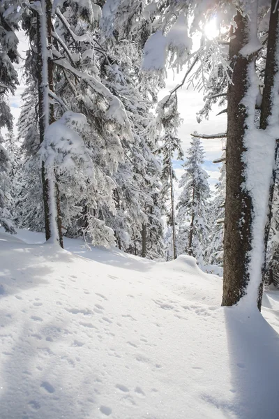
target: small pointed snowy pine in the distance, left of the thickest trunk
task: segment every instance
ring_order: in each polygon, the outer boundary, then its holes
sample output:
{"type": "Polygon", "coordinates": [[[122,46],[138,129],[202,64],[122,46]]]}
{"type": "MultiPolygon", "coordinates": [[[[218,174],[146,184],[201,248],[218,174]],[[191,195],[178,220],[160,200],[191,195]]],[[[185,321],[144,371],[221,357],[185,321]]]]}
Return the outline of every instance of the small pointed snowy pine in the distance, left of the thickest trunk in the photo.
{"type": "Polygon", "coordinates": [[[192,138],[183,163],[185,173],[179,186],[183,191],[177,203],[178,253],[195,256],[199,265],[204,264],[204,252],[207,244],[208,226],[206,205],[210,197],[208,175],[202,168],[204,151],[199,138],[192,138]]]}

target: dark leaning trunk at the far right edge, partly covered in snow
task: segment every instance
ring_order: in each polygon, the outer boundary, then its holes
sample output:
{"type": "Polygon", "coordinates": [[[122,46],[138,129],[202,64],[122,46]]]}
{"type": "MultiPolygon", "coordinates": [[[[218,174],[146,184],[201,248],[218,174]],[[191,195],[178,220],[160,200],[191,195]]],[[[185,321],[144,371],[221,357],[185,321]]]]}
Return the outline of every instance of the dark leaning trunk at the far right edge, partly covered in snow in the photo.
{"type": "MultiPolygon", "coordinates": [[[[262,95],[261,119],[259,123],[259,128],[262,128],[262,129],[266,129],[268,127],[269,118],[274,112],[273,88],[275,84],[275,78],[276,76],[278,77],[278,72],[279,72],[278,57],[276,57],[276,52],[278,50],[278,34],[279,34],[278,1],[272,0],[271,1],[271,15],[270,15],[270,20],[269,20],[269,39],[267,43],[267,52],[266,52],[266,69],[265,69],[265,74],[264,74],[264,91],[262,95]]],[[[275,149],[275,156],[274,156],[275,161],[277,159],[277,152],[278,152],[278,143],[275,149]]],[[[275,178],[276,178],[276,168],[274,167],[273,177],[271,179],[270,193],[269,193],[269,214],[268,214],[268,219],[266,222],[266,230],[265,230],[265,237],[264,237],[265,259],[266,259],[267,242],[269,240],[269,230],[270,230],[271,215],[272,215],[271,208],[272,208],[272,201],[273,201],[275,178]]],[[[273,279],[273,267],[276,267],[276,268],[278,267],[276,258],[275,258],[275,263],[274,264],[272,263],[271,268],[270,268],[271,279],[273,279]]],[[[262,304],[262,293],[264,289],[265,275],[266,275],[266,260],[263,267],[262,284],[259,286],[259,299],[258,299],[259,309],[261,308],[261,304],[262,304]]],[[[278,277],[277,272],[276,272],[276,276],[278,277]]]]}

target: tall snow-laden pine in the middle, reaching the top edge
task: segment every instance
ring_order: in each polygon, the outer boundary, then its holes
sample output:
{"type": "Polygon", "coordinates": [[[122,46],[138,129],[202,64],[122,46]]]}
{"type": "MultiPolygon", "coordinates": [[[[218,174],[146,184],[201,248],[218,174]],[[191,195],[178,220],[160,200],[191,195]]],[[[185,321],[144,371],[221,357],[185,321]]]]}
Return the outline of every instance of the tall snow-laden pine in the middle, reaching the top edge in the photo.
{"type": "Polygon", "coordinates": [[[133,142],[121,142],[124,161],[114,175],[116,217],[107,222],[114,226],[121,248],[158,258],[163,256],[162,206],[158,199],[160,164],[154,157],[158,135],[150,112],[156,92],[140,73],[144,41],[142,31],[136,31],[135,25],[148,31],[140,9],[130,1],[117,5],[106,1],[100,20],[99,42],[106,52],[103,59],[100,57],[101,80],[123,101],[134,138],[133,142]]]}

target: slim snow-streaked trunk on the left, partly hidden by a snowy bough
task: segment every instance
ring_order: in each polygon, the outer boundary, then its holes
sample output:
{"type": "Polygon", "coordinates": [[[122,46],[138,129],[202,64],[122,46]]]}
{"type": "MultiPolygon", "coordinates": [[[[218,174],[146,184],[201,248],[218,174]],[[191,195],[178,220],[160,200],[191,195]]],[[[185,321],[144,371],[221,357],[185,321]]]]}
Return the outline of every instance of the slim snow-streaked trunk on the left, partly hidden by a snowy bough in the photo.
{"type": "MultiPolygon", "coordinates": [[[[38,36],[38,110],[40,143],[45,138],[45,130],[54,122],[54,106],[49,100],[49,90],[54,90],[53,62],[49,57],[49,46],[52,42],[52,2],[42,0],[43,15],[37,15],[38,36]]],[[[61,227],[59,187],[55,181],[55,173],[50,176],[45,164],[42,164],[43,203],[45,212],[45,238],[56,237],[63,247],[61,227]],[[53,214],[52,214],[53,212],[53,214]]]]}

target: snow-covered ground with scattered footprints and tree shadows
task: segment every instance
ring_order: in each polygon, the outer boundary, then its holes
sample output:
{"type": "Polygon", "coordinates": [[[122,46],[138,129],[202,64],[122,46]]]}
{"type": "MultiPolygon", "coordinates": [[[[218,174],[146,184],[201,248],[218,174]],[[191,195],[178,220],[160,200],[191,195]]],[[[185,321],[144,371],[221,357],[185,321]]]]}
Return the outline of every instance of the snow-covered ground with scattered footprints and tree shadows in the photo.
{"type": "Polygon", "coordinates": [[[279,418],[278,291],[264,320],[220,308],[222,279],[190,257],[27,231],[0,247],[1,419],[279,418]]]}

